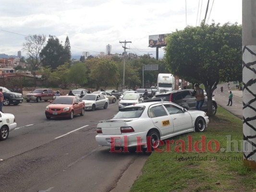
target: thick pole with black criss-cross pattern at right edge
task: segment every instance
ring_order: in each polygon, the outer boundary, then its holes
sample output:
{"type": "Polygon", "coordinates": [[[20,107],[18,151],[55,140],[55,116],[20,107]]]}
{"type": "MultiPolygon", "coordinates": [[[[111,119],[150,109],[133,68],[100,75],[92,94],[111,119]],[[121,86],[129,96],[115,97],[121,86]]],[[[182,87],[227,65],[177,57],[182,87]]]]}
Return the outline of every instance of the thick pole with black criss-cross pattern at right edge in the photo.
{"type": "Polygon", "coordinates": [[[244,164],[256,169],[256,1],[243,0],[243,153],[244,164]]]}

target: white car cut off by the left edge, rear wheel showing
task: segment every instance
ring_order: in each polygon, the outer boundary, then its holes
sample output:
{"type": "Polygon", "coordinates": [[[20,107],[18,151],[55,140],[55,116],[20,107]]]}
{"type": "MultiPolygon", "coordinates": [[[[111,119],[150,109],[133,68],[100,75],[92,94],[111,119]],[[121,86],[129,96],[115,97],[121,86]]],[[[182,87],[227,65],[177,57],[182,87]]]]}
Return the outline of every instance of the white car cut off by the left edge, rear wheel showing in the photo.
{"type": "Polygon", "coordinates": [[[14,115],[0,112],[0,141],[6,140],[9,132],[17,127],[14,115]]]}

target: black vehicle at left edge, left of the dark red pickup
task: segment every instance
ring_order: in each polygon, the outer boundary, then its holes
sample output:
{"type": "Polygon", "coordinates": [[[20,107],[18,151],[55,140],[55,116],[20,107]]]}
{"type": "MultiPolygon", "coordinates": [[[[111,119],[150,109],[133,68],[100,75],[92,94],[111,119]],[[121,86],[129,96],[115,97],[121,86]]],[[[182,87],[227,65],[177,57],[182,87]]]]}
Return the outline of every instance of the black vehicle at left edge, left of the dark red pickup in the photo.
{"type": "Polygon", "coordinates": [[[19,105],[23,102],[23,96],[21,93],[15,93],[5,87],[0,87],[3,91],[3,105],[19,105]]]}

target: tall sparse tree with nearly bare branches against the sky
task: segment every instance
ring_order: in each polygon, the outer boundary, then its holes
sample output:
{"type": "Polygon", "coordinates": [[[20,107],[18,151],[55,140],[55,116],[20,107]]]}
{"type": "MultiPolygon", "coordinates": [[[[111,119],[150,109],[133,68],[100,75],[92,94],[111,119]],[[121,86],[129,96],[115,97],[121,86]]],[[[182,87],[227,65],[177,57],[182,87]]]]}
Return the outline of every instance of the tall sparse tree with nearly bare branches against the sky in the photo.
{"type": "Polygon", "coordinates": [[[25,43],[23,43],[23,50],[27,52],[28,64],[34,76],[34,84],[36,84],[36,71],[41,64],[39,58],[40,51],[46,41],[45,35],[29,35],[25,37],[25,43]]]}

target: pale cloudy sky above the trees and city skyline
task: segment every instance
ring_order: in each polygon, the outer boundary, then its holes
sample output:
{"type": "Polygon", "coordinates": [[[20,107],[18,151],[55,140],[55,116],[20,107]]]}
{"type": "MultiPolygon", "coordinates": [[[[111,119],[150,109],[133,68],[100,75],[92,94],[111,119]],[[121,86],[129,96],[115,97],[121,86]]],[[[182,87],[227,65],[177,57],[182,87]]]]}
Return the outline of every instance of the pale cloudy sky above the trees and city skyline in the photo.
{"type": "MultiPolygon", "coordinates": [[[[127,52],[156,56],[148,36],[167,34],[204,19],[207,0],[1,0],[0,53],[17,55],[28,35],[69,37],[72,55],[97,55],[112,46],[122,53],[120,41],[132,41],[127,52]]],[[[210,0],[207,23],[242,24],[242,0],[210,0]]],[[[159,49],[159,57],[164,53],[159,49]]]]}

